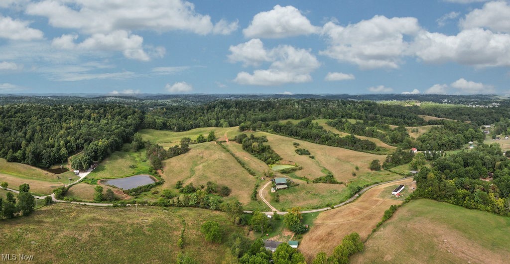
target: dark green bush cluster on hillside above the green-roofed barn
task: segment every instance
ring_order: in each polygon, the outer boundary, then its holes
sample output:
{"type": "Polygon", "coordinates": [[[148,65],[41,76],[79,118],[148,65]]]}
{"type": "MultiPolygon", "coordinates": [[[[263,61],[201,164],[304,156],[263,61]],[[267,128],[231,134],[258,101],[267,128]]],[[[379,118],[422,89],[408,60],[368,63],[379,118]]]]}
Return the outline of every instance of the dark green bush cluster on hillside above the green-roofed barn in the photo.
{"type": "Polygon", "coordinates": [[[267,138],[255,137],[251,134],[249,137],[246,134],[237,135],[234,141],[242,144],[243,149],[248,151],[250,154],[257,157],[257,159],[265,162],[266,164],[275,164],[277,161],[282,160],[271,146],[264,144],[267,142],[267,138]]]}

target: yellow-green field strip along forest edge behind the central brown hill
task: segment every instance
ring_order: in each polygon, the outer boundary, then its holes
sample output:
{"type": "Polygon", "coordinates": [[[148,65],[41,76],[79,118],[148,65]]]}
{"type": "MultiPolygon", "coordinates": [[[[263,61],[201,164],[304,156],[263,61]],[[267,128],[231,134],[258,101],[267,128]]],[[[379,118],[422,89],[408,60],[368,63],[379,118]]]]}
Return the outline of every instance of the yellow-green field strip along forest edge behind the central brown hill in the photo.
{"type": "Polygon", "coordinates": [[[142,129],[140,134],[143,140],[149,140],[152,144],[160,144],[164,148],[179,145],[182,138],[191,138],[196,140],[198,135],[202,134],[207,138],[210,131],[214,131],[214,135],[218,140],[234,139],[240,134],[239,127],[200,127],[183,132],[172,132],[167,130],[142,129]]]}

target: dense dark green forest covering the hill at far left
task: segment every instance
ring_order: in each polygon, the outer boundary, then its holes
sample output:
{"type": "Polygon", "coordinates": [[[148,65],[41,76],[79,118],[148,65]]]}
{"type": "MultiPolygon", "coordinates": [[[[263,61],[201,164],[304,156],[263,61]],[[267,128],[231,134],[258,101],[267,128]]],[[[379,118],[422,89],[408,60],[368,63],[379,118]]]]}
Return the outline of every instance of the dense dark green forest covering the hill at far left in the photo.
{"type": "Polygon", "coordinates": [[[0,106],[0,157],[49,167],[85,150],[98,161],[131,141],[143,113],[120,104],[0,106]]]}

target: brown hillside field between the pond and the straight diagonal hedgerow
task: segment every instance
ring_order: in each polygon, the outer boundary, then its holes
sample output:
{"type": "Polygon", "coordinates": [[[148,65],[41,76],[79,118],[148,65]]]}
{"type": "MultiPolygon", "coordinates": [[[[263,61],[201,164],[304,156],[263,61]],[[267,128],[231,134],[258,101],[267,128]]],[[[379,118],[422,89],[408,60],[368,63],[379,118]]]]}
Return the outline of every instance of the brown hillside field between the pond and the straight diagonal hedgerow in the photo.
{"type": "Polygon", "coordinates": [[[184,185],[193,183],[194,187],[213,181],[232,189],[230,197],[236,197],[241,203],[250,201],[257,178],[249,175],[231,154],[215,142],[194,144],[190,148],[189,152],[164,161],[164,189],[174,189],[179,180],[184,185]]]}

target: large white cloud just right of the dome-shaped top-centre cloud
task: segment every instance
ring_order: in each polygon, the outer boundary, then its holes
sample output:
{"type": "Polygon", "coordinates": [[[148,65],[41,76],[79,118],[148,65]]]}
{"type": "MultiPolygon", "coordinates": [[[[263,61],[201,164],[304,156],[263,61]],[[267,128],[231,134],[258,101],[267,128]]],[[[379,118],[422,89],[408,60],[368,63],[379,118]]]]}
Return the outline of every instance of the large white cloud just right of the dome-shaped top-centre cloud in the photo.
{"type": "Polygon", "coordinates": [[[415,36],[420,30],[414,17],[376,15],[346,27],[328,22],[322,35],[329,46],[320,54],[363,69],[398,68],[410,45],[404,36],[415,36]]]}

